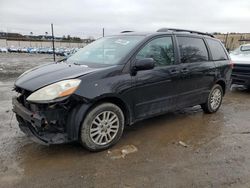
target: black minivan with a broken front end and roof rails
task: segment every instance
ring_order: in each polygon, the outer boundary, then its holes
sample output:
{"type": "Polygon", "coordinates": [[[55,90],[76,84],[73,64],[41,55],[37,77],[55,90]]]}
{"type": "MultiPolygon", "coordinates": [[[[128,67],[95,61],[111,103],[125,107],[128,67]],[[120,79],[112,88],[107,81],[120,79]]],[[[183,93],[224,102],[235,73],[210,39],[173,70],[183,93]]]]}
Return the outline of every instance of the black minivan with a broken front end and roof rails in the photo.
{"type": "Polygon", "coordinates": [[[207,33],[160,29],[96,40],[69,58],[28,70],[15,82],[20,129],[43,144],[114,145],[124,126],[201,105],[216,112],[232,64],[207,33]]]}

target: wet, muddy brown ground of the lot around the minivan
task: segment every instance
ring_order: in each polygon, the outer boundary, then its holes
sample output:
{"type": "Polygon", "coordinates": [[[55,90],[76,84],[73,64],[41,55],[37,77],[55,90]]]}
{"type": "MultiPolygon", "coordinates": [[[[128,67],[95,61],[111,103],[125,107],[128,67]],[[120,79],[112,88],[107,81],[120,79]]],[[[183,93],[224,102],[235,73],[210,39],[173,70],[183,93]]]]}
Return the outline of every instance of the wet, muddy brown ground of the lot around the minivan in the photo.
{"type": "Polygon", "coordinates": [[[17,128],[11,89],[51,60],[0,54],[0,187],[250,187],[250,91],[233,88],[213,115],[197,106],[139,122],[108,151],[47,147],[17,128]]]}

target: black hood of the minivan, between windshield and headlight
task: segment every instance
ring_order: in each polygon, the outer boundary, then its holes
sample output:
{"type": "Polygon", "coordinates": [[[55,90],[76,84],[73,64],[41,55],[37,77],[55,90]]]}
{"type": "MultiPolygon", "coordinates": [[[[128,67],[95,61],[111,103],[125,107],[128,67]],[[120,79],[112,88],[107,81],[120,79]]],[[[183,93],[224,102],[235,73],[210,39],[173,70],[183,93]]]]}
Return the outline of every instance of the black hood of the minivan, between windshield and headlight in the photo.
{"type": "Polygon", "coordinates": [[[15,86],[35,91],[46,85],[94,72],[100,68],[90,68],[86,65],[69,63],[49,63],[35,67],[23,73],[15,82],[15,86]]]}

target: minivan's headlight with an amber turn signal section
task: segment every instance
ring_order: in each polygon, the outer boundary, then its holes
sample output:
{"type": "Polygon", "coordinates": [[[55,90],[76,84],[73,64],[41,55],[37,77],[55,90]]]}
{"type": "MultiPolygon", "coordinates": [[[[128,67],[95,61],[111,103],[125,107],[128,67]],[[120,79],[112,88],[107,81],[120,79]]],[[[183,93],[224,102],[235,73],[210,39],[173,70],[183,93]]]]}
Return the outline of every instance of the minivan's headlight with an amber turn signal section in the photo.
{"type": "Polygon", "coordinates": [[[75,92],[81,80],[72,79],[56,82],[45,86],[32,93],[27,100],[32,102],[51,101],[57,98],[66,97],[75,92]]]}

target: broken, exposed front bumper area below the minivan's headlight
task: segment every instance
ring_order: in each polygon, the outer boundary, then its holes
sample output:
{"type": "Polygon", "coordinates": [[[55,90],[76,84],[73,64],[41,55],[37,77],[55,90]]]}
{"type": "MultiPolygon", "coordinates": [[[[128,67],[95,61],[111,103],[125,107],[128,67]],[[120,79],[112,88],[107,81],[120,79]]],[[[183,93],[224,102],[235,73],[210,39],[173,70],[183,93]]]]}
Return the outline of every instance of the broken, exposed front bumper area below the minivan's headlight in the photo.
{"type": "Polygon", "coordinates": [[[19,127],[33,141],[49,145],[69,142],[66,129],[59,120],[65,118],[63,110],[52,109],[49,111],[33,112],[26,108],[17,97],[12,99],[13,111],[16,113],[19,127]],[[57,114],[54,119],[44,114],[57,114]]]}

